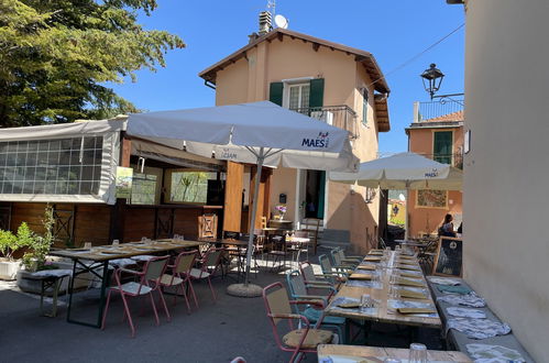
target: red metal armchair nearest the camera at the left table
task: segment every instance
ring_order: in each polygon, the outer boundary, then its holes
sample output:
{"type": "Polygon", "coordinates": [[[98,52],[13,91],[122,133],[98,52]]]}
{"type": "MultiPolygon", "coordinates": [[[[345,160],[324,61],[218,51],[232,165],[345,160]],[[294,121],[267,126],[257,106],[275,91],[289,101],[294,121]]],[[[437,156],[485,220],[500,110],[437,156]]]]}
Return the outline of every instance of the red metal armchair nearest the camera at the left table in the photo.
{"type": "Polygon", "coordinates": [[[156,310],[156,304],[154,302],[154,297],[153,297],[153,292],[157,290],[161,297],[162,305],[164,306],[164,311],[166,312],[167,320],[168,321],[171,320],[166,301],[164,300],[164,295],[160,290],[161,287],[160,279],[161,276],[166,271],[167,262],[168,262],[168,256],[160,256],[149,260],[145,263],[142,272],[134,270],[127,270],[127,268],[117,268],[114,271],[114,280],[117,283],[117,286],[113,286],[109,289],[109,294],[107,296],[107,304],[105,306],[105,314],[103,314],[103,321],[101,324],[101,329],[105,329],[106,326],[107,312],[109,311],[110,297],[113,292],[119,293],[120,296],[122,297],[122,302],[124,304],[124,317],[128,317],[128,322],[130,323],[130,329],[132,330],[132,338],[135,337],[135,327],[133,324],[132,316],[130,314],[128,297],[139,297],[139,296],[149,295],[151,298],[151,305],[153,306],[154,317],[156,319],[156,326],[158,326],[160,324],[158,311],[156,310]],[[122,284],[120,277],[121,273],[135,275],[136,277],[140,277],[140,280],[139,283],[129,282],[122,284]]]}

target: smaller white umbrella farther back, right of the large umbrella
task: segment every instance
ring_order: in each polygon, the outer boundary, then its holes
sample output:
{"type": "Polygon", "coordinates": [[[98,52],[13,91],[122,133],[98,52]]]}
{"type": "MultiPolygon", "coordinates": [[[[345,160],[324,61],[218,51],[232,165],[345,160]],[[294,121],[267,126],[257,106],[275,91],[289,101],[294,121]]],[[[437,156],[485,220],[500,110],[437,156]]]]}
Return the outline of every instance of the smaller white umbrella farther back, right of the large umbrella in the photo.
{"type": "MultiPolygon", "coordinates": [[[[358,173],[330,173],[333,182],[354,184],[382,189],[460,190],[462,172],[415,153],[400,153],[360,164],[358,173]]],[[[406,238],[408,231],[406,211],[406,238]]]]}

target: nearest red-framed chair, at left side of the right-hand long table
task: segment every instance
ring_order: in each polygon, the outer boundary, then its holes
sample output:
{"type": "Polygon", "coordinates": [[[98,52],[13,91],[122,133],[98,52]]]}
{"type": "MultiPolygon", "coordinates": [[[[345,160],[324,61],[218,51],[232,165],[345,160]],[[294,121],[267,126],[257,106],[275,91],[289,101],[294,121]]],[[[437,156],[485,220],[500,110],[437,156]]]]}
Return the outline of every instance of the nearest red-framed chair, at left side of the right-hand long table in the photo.
{"type": "Polygon", "coordinates": [[[285,352],[293,352],[290,362],[299,362],[305,353],[316,353],[319,344],[337,343],[338,336],[329,330],[318,329],[323,320],[323,312],[320,315],[317,323],[311,327],[309,320],[292,311],[290,305],[307,304],[322,307],[322,304],[311,300],[289,300],[286,289],[282,283],[274,283],[263,289],[263,301],[267,317],[273,328],[276,344],[285,352]],[[282,338],[279,336],[279,322],[288,321],[289,332],[282,338]],[[297,321],[296,321],[297,320],[297,321]],[[297,329],[294,328],[297,322],[297,329]]]}

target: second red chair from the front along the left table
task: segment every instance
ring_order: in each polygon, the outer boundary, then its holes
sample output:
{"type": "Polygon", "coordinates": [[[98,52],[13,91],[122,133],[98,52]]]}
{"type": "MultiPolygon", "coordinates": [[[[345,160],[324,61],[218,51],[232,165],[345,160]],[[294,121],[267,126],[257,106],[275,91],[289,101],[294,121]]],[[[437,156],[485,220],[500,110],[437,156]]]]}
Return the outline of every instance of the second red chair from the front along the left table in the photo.
{"type": "Polygon", "coordinates": [[[175,287],[174,294],[174,305],[177,299],[177,292],[180,288],[183,297],[185,297],[185,302],[187,304],[188,312],[190,314],[190,304],[187,296],[186,286],[188,285],[189,292],[193,295],[193,299],[195,300],[195,305],[198,308],[198,300],[196,298],[195,289],[193,288],[193,283],[190,280],[190,271],[195,265],[195,258],[198,254],[197,250],[182,252],[177,255],[173,265],[167,265],[169,268],[169,273],[165,273],[162,275],[160,280],[161,286],[164,287],[175,287]]]}

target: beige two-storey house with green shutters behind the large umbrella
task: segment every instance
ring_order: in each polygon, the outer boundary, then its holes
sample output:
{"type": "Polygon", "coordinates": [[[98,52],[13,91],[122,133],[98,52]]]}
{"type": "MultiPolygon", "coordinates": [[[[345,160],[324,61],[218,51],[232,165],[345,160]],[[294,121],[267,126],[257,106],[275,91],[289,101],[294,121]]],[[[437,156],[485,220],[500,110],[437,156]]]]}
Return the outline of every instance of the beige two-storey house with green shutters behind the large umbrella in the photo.
{"type": "MultiPolygon", "coordinates": [[[[389,89],[378,65],[370,53],[341,44],[275,29],[199,76],[215,85],[218,106],[271,100],[348,130],[361,162],[376,157],[377,133],[389,130],[389,89]]],[[[325,172],[283,167],[272,170],[268,186],[267,215],[285,199],[285,219],[318,218],[326,238],[352,241],[356,250],[376,238],[372,190],[331,183],[325,172]]]]}

